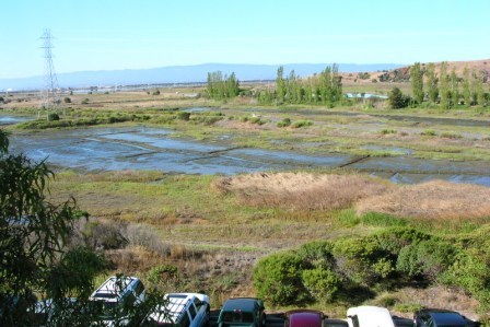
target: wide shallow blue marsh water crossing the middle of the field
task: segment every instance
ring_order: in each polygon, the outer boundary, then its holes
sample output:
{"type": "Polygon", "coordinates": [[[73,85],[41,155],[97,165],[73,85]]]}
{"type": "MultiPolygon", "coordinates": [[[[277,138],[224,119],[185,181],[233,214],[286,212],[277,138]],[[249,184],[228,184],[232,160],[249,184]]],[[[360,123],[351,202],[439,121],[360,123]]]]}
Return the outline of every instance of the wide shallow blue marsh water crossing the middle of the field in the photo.
{"type": "Polygon", "coordinates": [[[350,154],[272,151],[234,148],[225,142],[175,139],[167,129],[91,128],[15,135],[12,152],[34,160],[85,172],[156,170],[183,174],[234,175],[264,171],[350,167],[394,183],[415,184],[431,179],[474,183],[490,187],[490,162],[452,162],[399,156],[359,157],[350,154]]]}

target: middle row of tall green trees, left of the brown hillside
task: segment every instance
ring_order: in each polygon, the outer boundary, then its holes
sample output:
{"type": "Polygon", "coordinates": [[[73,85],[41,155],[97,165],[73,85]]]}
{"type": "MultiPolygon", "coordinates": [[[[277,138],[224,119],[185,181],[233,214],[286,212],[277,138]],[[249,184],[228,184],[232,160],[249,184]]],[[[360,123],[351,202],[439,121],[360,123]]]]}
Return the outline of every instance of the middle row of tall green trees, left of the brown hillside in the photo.
{"type": "Polygon", "coordinates": [[[306,79],[298,77],[294,70],[284,78],[281,66],[277,72],[276,89],[259,92],[257,98],[261,104],[324,104],[332,107],[342,100],[342,78],[337,65],[306,79]]]}

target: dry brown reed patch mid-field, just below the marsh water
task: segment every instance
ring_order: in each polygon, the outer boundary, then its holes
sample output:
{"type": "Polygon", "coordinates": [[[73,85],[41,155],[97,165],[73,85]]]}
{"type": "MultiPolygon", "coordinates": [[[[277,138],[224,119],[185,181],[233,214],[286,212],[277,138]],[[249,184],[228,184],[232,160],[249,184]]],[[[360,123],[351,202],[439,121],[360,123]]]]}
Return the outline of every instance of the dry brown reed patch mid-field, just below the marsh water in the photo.
{"type": "Polygon", "coordinates": [[[294,210],[335,210],[383,195],[390,186],[360,175],[256,173],[214,179],[221,194],[236,194],[244,205],[294,210]]]}

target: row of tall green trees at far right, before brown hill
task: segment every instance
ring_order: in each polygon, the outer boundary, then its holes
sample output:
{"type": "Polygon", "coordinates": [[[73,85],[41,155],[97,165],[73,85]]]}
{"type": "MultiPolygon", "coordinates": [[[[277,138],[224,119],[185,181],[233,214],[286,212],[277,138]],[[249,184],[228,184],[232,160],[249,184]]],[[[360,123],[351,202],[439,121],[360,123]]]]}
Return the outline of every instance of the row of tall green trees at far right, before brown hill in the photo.
{"type": "Polygon", "coordinates": [[[416,62],[410,68],[412,101],[415,104],[421,104],[425,100],[430,103],[440,103],[445,109],[458,104],[486,106],[488,103],[483,90],[486,79],[483,71],[470,73],[468,67],[465,67],[462,78],[456,74],[454,67],[448,73],[447,62],[441,63],[438,75],[434,63],[429,63],[422,69],[420,62],[416,62]]]}

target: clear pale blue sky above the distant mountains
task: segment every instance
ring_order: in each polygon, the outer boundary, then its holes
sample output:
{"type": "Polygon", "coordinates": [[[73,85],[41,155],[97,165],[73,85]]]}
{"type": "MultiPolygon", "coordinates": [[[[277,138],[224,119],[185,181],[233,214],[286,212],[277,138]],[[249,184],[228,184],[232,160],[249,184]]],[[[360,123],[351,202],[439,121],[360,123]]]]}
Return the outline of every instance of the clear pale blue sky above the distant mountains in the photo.
{"type": "Polygon", "coordinates": [[[490,58],[489,0],[5,0],[0,79],[225,63],[490,58]]]}

